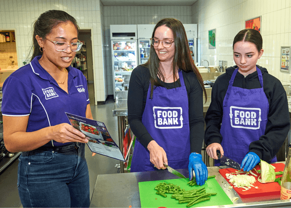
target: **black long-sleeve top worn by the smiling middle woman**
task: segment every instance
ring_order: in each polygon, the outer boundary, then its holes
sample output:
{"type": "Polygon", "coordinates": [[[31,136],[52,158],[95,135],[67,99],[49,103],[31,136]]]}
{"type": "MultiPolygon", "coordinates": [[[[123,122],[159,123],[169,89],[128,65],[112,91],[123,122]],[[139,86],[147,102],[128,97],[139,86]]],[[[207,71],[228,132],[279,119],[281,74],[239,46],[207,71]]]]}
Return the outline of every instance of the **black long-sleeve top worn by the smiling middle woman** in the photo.
{"type": "MultiPolygon", "coordinates": [[[[204,137],[203,92],[193,72],[186,73],[182,71],[182,74],[189,102],[190,150],[201,154],[204,137]]],[[[145,148],[152,140],[155,140],[155,135],[151,136],[141,122],[145,103],[147,102],[150,79],[149,68],[139,65],[132,71],[128,89],[128,122],[137,140],[145,148]]],[[[160,82],[167,89],[181,86],[180,79],[174,83],[160,82]]]]}

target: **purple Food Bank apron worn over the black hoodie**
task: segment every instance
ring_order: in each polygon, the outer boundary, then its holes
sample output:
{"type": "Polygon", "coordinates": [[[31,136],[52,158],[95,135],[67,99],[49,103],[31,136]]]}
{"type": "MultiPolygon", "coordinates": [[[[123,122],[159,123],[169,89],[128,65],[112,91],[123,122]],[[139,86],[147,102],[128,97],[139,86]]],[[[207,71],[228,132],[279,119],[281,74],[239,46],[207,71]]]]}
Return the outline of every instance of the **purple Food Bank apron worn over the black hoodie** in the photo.
{"type": "MultiPolygon", "coordinates": [[[[238,68],[232,73],[223,100],[223,117],[220,133],[224,155],[239,164],[249,152],[251,142],[265,134],[268,122],[269,102],[263,88],[263,76],[256,67],[261,88],[233,87],[238,68]]],[[[219,160],[215,165],[220,165],[219,160]]],[[[276,156],[271,160],[276,162],[276,156]]]]}

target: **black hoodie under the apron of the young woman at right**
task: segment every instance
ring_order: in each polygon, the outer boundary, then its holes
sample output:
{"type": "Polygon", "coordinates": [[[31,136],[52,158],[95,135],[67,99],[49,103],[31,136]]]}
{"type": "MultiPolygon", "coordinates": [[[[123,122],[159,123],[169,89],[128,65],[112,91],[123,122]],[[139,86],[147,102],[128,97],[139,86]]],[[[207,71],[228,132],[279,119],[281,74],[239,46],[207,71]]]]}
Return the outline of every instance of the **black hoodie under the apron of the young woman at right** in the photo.
{"type": "MultiPolygon", "coordinates": [[[[256,153],[262,160],[270,161],[281,148],[290,128],[288,101],[281,82],[270,75],[266,68],[259,65],[257,67],[263,75],[264,92],[269,101],[269,114],[265,134],[249,145],[249,152],[256,153]]],[[[236,65],[227,68],[226,73],[220,75],[213,85],[211,103],[205,117],[206,145],[221,144],[223,139],[220,134],[222,104],[229,80],[236,68],[236,65]]],[[[233,86],[246,89],[261,88],[257,71],[246,77],[237,73],[233,86]]]]}

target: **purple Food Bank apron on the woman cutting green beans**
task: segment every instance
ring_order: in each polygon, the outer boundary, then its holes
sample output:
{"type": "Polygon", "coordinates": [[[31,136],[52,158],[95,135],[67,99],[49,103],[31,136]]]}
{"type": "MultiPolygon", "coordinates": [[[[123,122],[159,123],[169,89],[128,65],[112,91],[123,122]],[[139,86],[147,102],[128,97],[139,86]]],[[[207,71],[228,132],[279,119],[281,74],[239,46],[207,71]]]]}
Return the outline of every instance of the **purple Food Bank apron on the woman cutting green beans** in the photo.
{"type": "MultiPolygon", "coordinates": [[[[151,84],[147,102],[142,114],[142,123],[150,135],[161,146],[174,169],[188,168],[190,155],[190,127],[188,96],[182,71],[179,70],[181,87],[166,89],[158,86],[150,98],[151,84]]],[[[150,152],[138,141],[135,142],[131,172],[157,170],[150,161],[150,152]]]]}

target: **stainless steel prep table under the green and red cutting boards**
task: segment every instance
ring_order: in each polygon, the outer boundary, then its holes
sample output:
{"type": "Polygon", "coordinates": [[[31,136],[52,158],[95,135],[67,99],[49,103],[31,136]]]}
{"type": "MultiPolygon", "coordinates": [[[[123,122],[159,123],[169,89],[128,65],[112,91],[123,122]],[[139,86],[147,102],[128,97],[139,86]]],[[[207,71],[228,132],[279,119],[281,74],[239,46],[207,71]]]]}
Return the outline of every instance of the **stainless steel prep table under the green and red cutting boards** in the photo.
{"type": "MultiPolygon", "coordinates": [[[[227,166],[208,167],[208,175],[216,175],[217,182],[231,200],[234,197],[239,197],[239,199],[236,200],[234,204],[220,205],[217,207],[291,206],[290,199],[280,200],[279,197],[273,199],[268,197],[268,201],[266,198],[240,198],[234,189],[228,189],[228,182],[218,172],[220,168],[227,168],[227,166]]],[[[180,169],[179,171],[182,172],[184,176],[188,175],[188,169],[180,169]]],[[[171,174],[167,170],[99,175],[95,184],[90,207],[141,207],[138,182],[177,178],[177,176],[171,174]]]]}

